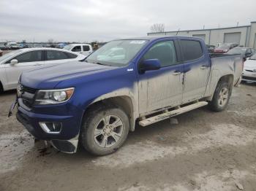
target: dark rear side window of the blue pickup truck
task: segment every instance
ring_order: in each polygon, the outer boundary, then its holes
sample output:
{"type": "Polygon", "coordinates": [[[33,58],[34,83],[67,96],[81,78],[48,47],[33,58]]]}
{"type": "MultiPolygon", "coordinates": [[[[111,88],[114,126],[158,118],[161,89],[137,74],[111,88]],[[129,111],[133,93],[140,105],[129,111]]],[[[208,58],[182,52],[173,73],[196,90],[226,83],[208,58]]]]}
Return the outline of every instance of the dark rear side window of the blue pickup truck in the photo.
{"type": "Polygon", "coordinates": [[[203,56],[203,50],[199,41],[181,40],[181,48],[184,61],[196,60],[203,56]]]}

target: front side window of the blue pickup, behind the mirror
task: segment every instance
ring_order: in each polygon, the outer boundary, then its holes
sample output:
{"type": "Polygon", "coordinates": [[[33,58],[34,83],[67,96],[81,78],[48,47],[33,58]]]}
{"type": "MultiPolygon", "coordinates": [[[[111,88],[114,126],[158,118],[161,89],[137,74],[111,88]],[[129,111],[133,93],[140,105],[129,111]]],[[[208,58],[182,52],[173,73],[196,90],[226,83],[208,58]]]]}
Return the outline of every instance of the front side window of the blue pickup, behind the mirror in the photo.
{"type": "Polygon", "coordinates": [[[177,63],[176,50],[173,41],[154,44],[143,56],[143,60],[158,59],[162,67],[177,63]]]}

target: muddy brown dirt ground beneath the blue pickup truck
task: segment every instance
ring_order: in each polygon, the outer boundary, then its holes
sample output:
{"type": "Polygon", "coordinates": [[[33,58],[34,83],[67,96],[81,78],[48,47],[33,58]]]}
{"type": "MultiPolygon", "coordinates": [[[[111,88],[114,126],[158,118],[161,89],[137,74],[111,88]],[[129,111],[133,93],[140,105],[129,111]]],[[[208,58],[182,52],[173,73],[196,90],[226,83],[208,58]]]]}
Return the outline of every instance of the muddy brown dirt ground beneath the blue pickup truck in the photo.
{"type": "Polygon", "coordinates": [[[256,190],[256,85],[207,107],[129,133],[113,155],[74,155],[34,143],[0,95],[0,190],[256,190]]]}

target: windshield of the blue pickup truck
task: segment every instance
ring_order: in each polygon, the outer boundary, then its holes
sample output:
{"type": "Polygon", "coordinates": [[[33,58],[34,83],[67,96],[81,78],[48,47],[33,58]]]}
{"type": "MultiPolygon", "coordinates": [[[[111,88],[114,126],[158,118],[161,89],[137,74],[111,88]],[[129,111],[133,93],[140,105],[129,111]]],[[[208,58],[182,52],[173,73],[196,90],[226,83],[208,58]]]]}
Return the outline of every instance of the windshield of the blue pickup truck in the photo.
{"type": "Polygon", "coordinates": [[[146,42],[146,40],[115,40],[108,42],[108,44],[89,55],[86,61],[107,66],[126,66],[146,42]]]}

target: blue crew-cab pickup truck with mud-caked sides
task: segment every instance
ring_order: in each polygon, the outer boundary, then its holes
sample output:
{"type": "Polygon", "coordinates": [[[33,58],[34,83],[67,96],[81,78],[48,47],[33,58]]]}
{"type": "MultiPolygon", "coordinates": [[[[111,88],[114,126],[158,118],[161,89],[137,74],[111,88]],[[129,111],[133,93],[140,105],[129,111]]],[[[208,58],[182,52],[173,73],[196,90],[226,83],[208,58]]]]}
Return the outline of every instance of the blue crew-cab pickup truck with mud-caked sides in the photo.
{"type": "Polygon", "coordinates": [[[241,55],[209,55],[198,38],[113,40],[83,62],[24,72],[16,117],[62,152],[76,152],[80,142],[94,155],[108,155],[136,123],[151,125],[206,105],[224,110],[242,69],[241,55]]]}

